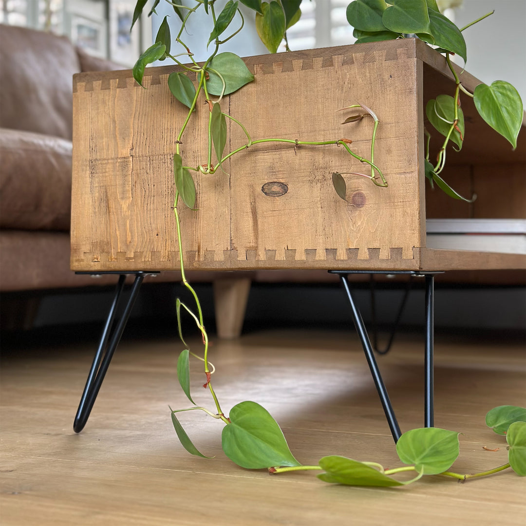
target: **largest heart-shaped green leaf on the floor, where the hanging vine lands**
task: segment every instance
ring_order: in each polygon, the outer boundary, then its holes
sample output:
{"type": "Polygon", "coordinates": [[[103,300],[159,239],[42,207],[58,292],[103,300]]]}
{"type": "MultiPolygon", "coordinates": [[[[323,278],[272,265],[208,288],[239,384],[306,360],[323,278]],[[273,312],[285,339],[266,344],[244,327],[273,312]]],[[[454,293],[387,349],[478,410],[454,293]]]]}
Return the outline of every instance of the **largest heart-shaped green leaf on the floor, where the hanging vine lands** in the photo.
{"type": "Polygon", "coordinates": [[[276,420],[256,402],[241,402],[232,408],[221,442],[226,456],[242,468],[301,466],[276,420]]]}

